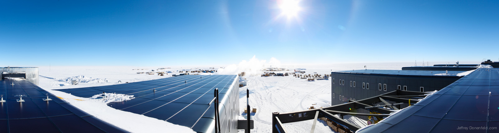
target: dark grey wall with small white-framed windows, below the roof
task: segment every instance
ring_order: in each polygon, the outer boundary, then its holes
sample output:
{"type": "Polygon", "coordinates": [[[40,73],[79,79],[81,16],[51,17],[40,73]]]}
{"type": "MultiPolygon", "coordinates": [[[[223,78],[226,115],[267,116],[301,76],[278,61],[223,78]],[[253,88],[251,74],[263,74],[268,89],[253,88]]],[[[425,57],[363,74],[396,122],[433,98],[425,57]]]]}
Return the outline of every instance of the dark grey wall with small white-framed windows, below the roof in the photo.
{"type": "MultiPolygon", "coordinates": [[[[420,87],[424,87],[424,92],[441,90],[444,87],[452,84],[462,77],[458,76],[412,76],[412,75],[378,75],[378,74],[358,74],[358,73],[338,73],[331,72],[331,105],[339,105],[347,103],[350,98],[352,100],[362,100],[375,97],[390,91],[395,91],[398,86],[403,90],[407,86],[407,91],[420,91],[420,87]],[[340,80],[344,80],[340,84],[340,80]],[[352,86],[350,86],[352,81],[352,86]],[[355,81],[355,87],[353,86],[355,81]],[[362,83],[366,83],[364,86],[362,83]],[[369,89],[367,89],[369,83],[369,89]],[[381,90],[378,85],[381,84],[381,90]],[[384,84],[387,89],[384,90],[384,84]],[[341,97],[340,97],[341,96],[341,97]]],[[[391,103],[391,102],[390,102],[391,103]]],[[[383,103],[378,103],[384,105],[383,103]]],[[[405,108],[408,104],[402,104],[399,108],[405,108]]],[[[368,110],[357,109],[357,113],[369,113],[368,110]]],[[[365,116],[357,116],[363,120],[367,120],[365,116]]]]}

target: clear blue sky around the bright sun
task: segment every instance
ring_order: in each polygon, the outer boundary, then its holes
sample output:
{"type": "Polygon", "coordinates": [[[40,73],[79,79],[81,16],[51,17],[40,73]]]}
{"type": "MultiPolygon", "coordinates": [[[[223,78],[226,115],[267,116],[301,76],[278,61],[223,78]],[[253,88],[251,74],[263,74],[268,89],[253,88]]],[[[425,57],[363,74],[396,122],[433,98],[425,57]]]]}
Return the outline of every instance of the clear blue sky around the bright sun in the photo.
{"type": "Polygon", "coordinates": [[[497,0],[3,0],[0,66],[498,60],[497,0]],[[280,17],[279,17],[280,16],[280,17]]]}

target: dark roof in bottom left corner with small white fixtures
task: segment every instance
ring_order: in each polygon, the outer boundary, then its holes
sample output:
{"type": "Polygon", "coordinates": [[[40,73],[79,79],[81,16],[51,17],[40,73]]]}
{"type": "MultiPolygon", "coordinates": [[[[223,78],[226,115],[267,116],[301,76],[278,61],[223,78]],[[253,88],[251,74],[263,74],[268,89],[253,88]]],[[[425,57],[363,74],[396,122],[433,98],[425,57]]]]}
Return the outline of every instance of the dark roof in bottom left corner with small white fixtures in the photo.
{"type": "Polygon", "coordinates": [[[0,133],[128,133],[91,116],[26,79],[0,81],[0,133]],[[14,85],[11,85],[13,82],[14,85]],[[46,94],[52,99],[43,101],[46,94]],[[18,96],[25,95],[17,102],[18,96]]]}

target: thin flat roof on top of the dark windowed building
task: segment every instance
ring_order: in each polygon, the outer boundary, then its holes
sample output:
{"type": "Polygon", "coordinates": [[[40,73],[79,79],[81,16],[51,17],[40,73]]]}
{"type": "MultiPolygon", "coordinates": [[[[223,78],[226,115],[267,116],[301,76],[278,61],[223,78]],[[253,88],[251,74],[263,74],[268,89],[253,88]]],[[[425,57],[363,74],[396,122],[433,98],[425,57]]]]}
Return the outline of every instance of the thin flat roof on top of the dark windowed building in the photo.
{"type": "Polygon", "coordinates": [[[333,73],[357,73],[357,74],[378,74],[378,75],[413,75],[413,76],[456,76],[458,73],[466,71],[449,71],[449,75],[445,71],[417,71],[417,70],[347,70],[347,71],[334,71],[333,73]],[[436,75],[440,74],[440,75],[436,75]]]}

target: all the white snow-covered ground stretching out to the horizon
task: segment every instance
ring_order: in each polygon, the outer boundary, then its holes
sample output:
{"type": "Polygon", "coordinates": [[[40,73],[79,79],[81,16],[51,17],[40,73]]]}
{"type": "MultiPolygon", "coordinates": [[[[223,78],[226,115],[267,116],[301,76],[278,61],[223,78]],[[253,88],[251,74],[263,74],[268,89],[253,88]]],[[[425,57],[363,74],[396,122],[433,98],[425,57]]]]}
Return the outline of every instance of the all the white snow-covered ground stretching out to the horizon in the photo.
{"type": "MultiPolygon", "coordinates": [[[[133,114],[113,109],[106,105],[105,101],[92,100],[88,98],[75,97],[70,94],[54,91],[57,89],[82,88],[92,86],[105,86],[122,84],[125,82],[139,82],[159,78],[171,77],[173,74],[179,74],[183,70],[218,70],[213,74],[237,74],[247,72],[247,86],[240,89],[240,119],[244,119],[244,108],[246,107],[246,89],[250,89],[250,105],[257,109],[257,113],[251,118],[255,120],[252,133],[270,133],[271,132],[271,113],[272,112],[293,112],[307,110],[311,106],[314,108],[330,106],[331,101],[331,81],[316,80],[306,81],[306,79],[295,78],[293,76],[269,76],[260,77],[263,73],[259,71],[261,67],[278,67],[289,71],[272,71],[275,73],[294,72],[294,69],[302,69],[305,74],[330,74],[331,71],[358,70],[365,69],[385,69],[401,70],[402,67],[414,66],[414,62],[405,63],[344,63],[344,64],[289,64],[281,65],[276,60],[271,64],[261,65],[260,60],[243,61],[239,65],[220,65],[220,66],[185,66],[172,67],[170,69],[159,70],[160,72],[171,71],[167,76],[157,74],[137,74],[138,72],[151,72],[151,70],[163,67],[131,67],[131,66],[41,66],[39,67],[39,86],[49,90],[52,94],[64,98],[75,107],[96,116],[103,121],[111,123],[117,127],[123,128],[134,133],[189,133],[193,132],[187,127],[173,125],[171,123],[149,118],[143,115],[133,114]],[[249,65],[250,64],[250,65],[249,65]],[[220,67],[227,67],[220,69],[220,67]],[[255,68],[256,67],[256,68],[255,68]],[[214,68],[214,69],[210,69],[214,68]],[[139,70],[132,70],[139,69],[139,70]],[[144,70],[141,70],[144,69],[144,70]],[[258,71],[255,71],[257,69],[258,71]],[[80,76],[81,75],[81,76],[80,76]],[[79,77],[78,77],[79,76],[79,77]],[[83,77],[84,76],[84,77],[83,77]],[[83,81],[78,85],[71,85],[66,79],[80,78],[83,81]],[[97,81],[97,82],[95,82],[97,81]],[[107,81],[102,83],[101,81],[107,81]],[[118,83],[121,81],[121,83],[118,83]],[[173,130],[172,130],[173,129],[173,130]]],[[[425,62],[426,64],[426,62],[425,62]]],[[[446,63],[431,63],[446,64],[446,63]]],[[[471,63],[472,64],[472,63],[471,63]]],[[[193,74],[193,73],[191,73],[193,74]]],[[[212,73],[194,73],[194,74],[212,74],[212,73]]],[[[70,81],[70,80],[69,80],[70,81]]],[[[97,95],[97,94],[96,94],[97,95]]],[[[363,123],[355,118],[348,118],[347,121],[363,123]]],[[[312,120],[284,124],[288,132],[303,133],[310,132],[312,120]]],[[[361,126],[362,127],[362,126],[361,126]]],[[[319,121],[315,127],[316,133],[332,132],[326,124],[319,121]],[[322,124],[320,124],[322,123],[322,124]]]]}

